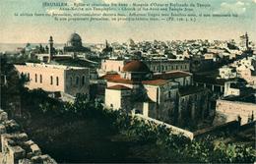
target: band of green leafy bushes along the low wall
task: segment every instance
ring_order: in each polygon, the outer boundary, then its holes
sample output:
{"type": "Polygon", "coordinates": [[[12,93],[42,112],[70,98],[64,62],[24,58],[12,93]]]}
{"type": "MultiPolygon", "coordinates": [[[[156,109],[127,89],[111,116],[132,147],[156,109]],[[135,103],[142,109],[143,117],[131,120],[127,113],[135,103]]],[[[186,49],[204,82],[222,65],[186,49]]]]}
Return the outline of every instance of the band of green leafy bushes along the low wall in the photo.
{"type": "MultiPolygon", "coordinates": [[[[44,106],[44,112],[53,112],[53,106],[44,106]]],[[[108,120],[112,129],[138,144],[153,143],[159,146],[165,155],[160,155],[156,162],[172,162],[173,156],[179,162],[224,162],[224,163],[253,163],[256,151],[243,144],[215,142],[215,137],[204,137],[193,141],[186,137],[173,135],[171,130],[163,125],[145,122],[132,117],[124,111],[104,109],[99,101],[85,101],[84,95],[77,96],[74,103],[66,103],[58,110],[62,115],[75,117],[96,117],[108,120]]]]}

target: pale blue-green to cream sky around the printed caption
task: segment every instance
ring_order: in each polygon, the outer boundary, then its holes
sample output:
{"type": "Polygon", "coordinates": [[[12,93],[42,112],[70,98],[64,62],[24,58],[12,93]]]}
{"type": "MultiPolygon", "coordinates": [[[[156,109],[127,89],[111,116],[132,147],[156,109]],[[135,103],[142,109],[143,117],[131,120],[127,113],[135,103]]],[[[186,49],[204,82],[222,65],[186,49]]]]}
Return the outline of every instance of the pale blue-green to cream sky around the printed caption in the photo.
{"type": "Polygon", "coordinates": [[[238,39],[245,31],[256,42],[256,0],[0,0],[0,43],[45,43],[50,35],[65,43],[76,31],[84,43],[176,39],[238,39]],[[56,22],[51,17],[15,17],[15,13],[51,13],[42,2],[67,3],[208,3],[196,12],[237,14],[237,18],[198,19],[189,22],[56,22]]]}

